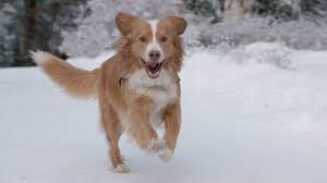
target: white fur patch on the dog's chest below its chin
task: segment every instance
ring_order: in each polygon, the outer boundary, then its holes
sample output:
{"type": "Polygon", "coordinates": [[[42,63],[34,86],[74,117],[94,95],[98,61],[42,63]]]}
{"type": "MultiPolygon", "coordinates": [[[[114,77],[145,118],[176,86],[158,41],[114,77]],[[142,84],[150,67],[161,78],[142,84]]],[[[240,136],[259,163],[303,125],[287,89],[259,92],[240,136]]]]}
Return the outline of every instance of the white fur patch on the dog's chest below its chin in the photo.
{"type": "Polygon", "coordinates": [[[177,84],[166,70],[161,70],[157,78],[149,78],[144,70],[138,70],[130,75],[129,86],[135,89],[136,94],[148,96],[154,100],[149,111],[153,124],[161,122],[162,109],[177,97],[177,84]]]}

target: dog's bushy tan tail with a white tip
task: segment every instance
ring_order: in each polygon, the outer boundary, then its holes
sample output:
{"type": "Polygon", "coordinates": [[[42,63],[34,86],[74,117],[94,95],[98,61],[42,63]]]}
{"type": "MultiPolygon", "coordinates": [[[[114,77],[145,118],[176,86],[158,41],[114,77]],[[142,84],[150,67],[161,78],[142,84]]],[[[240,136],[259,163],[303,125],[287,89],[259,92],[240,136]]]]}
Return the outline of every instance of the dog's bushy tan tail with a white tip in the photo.
{"type": "Polygon", "coordinates": [[[82,98],[96,96],[98,70],[77,69],[44,51],[29,53],[34,62],[71,96],[82,98]]]}

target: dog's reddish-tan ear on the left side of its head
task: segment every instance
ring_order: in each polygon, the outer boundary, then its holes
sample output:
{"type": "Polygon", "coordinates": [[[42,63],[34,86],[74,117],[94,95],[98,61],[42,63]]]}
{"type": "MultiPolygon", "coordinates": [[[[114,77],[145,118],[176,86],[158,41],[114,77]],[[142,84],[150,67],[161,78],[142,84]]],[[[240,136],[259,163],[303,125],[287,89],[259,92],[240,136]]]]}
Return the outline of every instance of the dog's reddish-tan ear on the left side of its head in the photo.
{"type": "Polygon", "coordinates": [[[138,20],[137,16],[128,14],[128,13],[118,13],[116,16],[116,25],[119,32],[126,36],[132,32],[134,23],[138,20]]]}

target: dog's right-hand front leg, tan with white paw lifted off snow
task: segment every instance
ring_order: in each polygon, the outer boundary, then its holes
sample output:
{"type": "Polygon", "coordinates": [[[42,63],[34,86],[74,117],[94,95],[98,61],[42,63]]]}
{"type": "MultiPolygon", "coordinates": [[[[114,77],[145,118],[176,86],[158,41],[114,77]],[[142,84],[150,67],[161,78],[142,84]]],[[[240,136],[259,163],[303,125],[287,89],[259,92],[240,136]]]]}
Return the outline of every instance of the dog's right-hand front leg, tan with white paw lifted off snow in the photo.
{"type": "Polygon", "coordinates": [[[172,157],[181,127],[181,106],[179,100],[167,106],[164,121],[166,129],[166,133],[164,135],[166,149],[159,155],[159,157],[162,161],[167,162],[172,157]]]}

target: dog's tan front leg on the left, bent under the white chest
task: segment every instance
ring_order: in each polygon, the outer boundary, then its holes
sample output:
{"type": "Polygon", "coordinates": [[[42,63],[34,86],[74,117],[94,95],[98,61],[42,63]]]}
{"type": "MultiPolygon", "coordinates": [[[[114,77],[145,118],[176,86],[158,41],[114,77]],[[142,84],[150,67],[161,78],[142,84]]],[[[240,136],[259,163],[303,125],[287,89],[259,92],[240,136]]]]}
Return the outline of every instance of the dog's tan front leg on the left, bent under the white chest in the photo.
{"type": "Polygon", "coordinates": [[[158,139],[158,134],[149,122],[149,108],[152,100],[146,97],[135,99],[129,110],[129,131],[135,138],[141,149],[150,150],[153,142],[158,139]]]}

